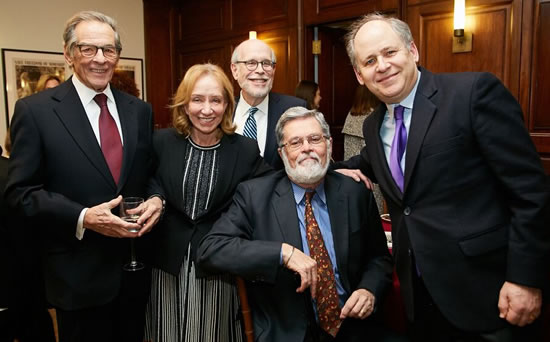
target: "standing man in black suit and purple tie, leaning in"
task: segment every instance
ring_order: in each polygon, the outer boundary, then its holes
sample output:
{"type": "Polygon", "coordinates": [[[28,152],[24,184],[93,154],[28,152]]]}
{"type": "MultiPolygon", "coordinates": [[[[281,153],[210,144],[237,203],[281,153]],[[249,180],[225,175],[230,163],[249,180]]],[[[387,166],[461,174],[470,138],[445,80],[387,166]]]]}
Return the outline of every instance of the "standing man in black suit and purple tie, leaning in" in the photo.
{"type": "Polygon", "coordinates": [[[536,341],[549,186],[519,104],[490,74],[417,68],[398,19],[365,16],[347,49],[383,104],[361,154],[336,167],[380,184],[414,340],[536,341]]]}

